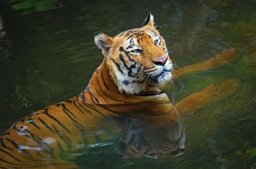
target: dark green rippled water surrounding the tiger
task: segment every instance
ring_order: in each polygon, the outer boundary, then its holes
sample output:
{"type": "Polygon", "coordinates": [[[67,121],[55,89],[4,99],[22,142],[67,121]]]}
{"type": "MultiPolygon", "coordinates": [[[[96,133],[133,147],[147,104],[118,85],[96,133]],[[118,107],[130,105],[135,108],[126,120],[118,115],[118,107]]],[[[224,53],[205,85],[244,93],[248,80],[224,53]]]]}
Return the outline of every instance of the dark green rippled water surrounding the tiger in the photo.
{"type": "Polygon", "coordinates": [[[103,59],[94,33],[114,36],[138,28],[148,11],[179,67],[225,49],[238,50],[231,64],[174,80],[167,88],[173,103],[231,78],[240,80],[238,91],[181,120],[186,133],[181,156],[122,160],[114,145],[119,129],[113,125],[107,141],[86,145],[86,151],[66,158],[81,168],[255,168],[255,156],[248,152],[256,145],[255,1],[63,1],[61,8],[17,16],[12,43],[6,41],[10,35],[0,39],[5,46],[0,64],[1,133],[31,112],[84,90],[103,59]]]}

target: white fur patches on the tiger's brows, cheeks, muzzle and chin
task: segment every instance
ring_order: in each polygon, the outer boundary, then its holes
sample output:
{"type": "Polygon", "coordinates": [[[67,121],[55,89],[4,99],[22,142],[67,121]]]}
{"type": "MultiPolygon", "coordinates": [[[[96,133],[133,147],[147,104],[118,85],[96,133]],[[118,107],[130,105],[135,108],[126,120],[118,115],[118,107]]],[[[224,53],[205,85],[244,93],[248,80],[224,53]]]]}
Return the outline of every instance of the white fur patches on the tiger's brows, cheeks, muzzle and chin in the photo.
{"type": "MultiPolygon", "coordinates": [[[[145,31],[145,32],[148,33],[150,36],[152,36],[153,42],[156,39],[160,39],[157,35],[154,35],[154,33],[151,31],[145,31]]],[[[140,49],[136,38],[133,38],[132,40],[131,38],[125,40],[125,42],[122,44],[123,48],[126,49],[128,46],[130,46],[129,51],[132,51],[134,49],[140,49]]],[[[123,56],[124,60],[127,60],[125,52],[121,52],[121,55],[123,56]]],[[[140,66],[138,63],[136,63],[135,60],[129,59],[125,63],[119,62],[119,66],[123,73],[118,70],[117,66],[113,66],[111,67],[111,69],[114,72],[114,78],[117,81],[117,86],[119,91],[125,92],[127,94],[137,94],[140,91],[144,90],[146,86],[158,85],[161,82],[166,82],[170,80],[172,77],[172,74],[171,74],[172,63],[169,59],[167,59],[164,66],[154,65],[155,66],[154,69],[156,70],[148,73],[146,76],[144,76],[145,72],[143,71],[143,66],[140,66]],[[165,70],[166,72],[163,73],[163,70],[165,70]],[[152,78],[156,80],[154,80],[153,82],[151,80],[152,78]],[[142,81],[143,83],[141,83],[142,81]]]]}

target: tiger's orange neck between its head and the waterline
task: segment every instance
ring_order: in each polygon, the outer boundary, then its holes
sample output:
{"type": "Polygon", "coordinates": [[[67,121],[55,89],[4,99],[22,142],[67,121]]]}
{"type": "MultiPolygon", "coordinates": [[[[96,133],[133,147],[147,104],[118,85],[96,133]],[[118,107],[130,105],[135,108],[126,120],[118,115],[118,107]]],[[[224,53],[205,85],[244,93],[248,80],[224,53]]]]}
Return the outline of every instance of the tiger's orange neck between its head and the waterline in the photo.
{"type": "Polygon", "coordinates": [[[157,86],[148,86],[138,94],[128,95],[120,92],[110,76],[105,59],[93,73],[88,86],[80,93],[79,99],[83,103],[89,104],[119,104],[138,103],[144,102],[145,100],[151,100],[152,102],[169,100],[167,95],[163,91],[160,91],[157,86]]]}

